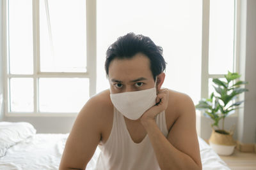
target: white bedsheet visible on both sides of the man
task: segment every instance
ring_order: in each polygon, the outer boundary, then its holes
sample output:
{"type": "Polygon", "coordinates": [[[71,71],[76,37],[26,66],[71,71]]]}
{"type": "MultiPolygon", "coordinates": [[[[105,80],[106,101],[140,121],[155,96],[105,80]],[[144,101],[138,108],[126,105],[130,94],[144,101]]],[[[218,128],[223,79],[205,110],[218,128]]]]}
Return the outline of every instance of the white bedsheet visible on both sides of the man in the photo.
{"type": "MultiPolygon", "coordinates": [[[[61,155],[68,134],[35,134],[35,136],[12,146],[4,157],[0,157],[1,170],[55,170],[60,164],[61,155]]],[[[207,143],[198,138],[203,169],[229,169],[225,162],[207,143]]],[[[99,148],[86,169],[92,170],[100,153],[99,148]]],[[[102,169],[103,170],[103,169],[102,169]]]]}

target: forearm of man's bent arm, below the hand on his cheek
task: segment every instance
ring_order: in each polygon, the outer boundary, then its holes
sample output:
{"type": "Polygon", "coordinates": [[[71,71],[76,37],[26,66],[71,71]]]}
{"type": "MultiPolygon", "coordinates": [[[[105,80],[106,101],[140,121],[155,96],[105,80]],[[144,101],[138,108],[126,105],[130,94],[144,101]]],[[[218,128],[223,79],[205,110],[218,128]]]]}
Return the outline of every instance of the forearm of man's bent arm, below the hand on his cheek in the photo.
{"type": "Polygon", "coordinates": [[[180,152],[164,137],[156,122],[144,122],[150,142],[154,148],[159,167],[163,169],[201,169],[196,162],[180,152]]]}

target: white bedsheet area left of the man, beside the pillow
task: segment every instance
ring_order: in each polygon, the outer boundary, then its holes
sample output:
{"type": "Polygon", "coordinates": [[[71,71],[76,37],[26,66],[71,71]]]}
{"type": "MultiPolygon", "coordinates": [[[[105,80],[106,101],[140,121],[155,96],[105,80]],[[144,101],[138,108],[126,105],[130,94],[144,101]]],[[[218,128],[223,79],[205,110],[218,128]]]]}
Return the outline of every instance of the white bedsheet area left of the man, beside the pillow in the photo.
{"type": "Polygon", "coordinates": [[[68,134],[35,134],[0,158],[0,169],[58,169],[68,134]]]}

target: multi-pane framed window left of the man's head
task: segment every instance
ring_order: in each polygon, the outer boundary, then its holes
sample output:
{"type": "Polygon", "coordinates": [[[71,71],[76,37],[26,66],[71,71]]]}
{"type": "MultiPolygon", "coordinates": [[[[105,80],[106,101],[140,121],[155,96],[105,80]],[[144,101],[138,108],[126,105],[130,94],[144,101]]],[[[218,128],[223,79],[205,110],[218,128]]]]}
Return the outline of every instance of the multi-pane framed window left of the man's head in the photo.
{"type": "Polygon", "coordinates": [[[6,115],[76,114],[95,94],[95,3],[6,0],[3,8],[6,115]]]}

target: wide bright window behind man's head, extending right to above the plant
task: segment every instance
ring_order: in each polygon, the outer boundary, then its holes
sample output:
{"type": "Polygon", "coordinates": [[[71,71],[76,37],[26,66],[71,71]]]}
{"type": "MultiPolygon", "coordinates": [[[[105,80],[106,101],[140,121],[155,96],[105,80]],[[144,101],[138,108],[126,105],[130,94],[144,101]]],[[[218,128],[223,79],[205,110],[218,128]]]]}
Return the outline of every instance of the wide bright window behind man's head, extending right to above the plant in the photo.
{"type": "Polygon", "coordinates": [[[104,83],[97,84],[97,92],[108,88],[104,73],[106,49],[118,36],[132,31],[149,36],[163,47],[167,62],[163,87],[189,94],[198,103],[211,92],[211,78],[224,77],[228,70],[235,69],[234,3],[234,0],[98,0],[97,81],[104,83]]]}

